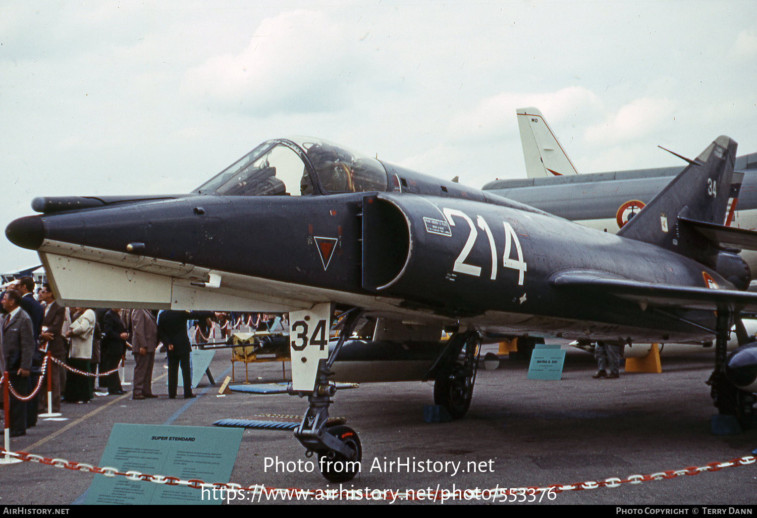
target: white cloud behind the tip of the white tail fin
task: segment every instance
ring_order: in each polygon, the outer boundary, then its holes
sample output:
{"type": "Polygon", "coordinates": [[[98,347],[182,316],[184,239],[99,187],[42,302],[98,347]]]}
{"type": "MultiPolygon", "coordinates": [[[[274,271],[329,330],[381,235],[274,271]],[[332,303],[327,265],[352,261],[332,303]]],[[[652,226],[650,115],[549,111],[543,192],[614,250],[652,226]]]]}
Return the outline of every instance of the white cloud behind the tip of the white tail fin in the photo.
{"type": "Polygon", "coordinates": [[[502,92],[484,98],[471,111],[459,114],[448,131],[454,140],[501,139],[516,133],[516,109],[534,106],[552,123],[596,120],[602,101],[582,86],[569,86],[550,93],[502,92]]]}

